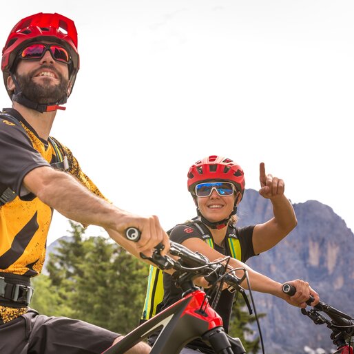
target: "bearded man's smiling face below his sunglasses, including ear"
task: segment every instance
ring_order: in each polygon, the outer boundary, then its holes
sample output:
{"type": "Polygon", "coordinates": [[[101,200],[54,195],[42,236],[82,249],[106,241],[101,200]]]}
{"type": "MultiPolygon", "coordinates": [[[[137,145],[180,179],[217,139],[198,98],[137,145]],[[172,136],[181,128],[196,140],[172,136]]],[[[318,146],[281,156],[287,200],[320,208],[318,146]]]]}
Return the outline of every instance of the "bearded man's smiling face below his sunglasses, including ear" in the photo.
{"type": "MultiPolygon", "coordinates": [[[[67,96],[67,64],[55,61],[49,50],[38,60],[19,59],[15,76],[23,95],[39,104],[55,103],[67,96]]],[[[14,84],[10,78],[9,87],[14,84]]]]}

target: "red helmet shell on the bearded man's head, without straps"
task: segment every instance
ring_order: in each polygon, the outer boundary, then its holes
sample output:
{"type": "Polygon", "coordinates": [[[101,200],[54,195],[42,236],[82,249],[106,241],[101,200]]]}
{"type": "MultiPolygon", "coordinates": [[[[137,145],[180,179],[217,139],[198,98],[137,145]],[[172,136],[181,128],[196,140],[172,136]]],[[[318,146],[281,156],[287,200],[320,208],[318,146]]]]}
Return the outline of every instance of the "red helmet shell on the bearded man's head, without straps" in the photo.
{"type": "MultiPolygon", "coordinates": [[[[61,14],[32,14],[21,19],[12,28],[3,48],[1,70],[7,87],[8,76],[13,70],[19,50],[34,41],[51,41],[63,45],[69,52],[72,63],[69,66],[70,84],[73,86],[79,71],[79,54],[77,52],[77,32],[74,21],[61,14]]],[[[10,92],[9,92],[10,94],[10,92]]]]}

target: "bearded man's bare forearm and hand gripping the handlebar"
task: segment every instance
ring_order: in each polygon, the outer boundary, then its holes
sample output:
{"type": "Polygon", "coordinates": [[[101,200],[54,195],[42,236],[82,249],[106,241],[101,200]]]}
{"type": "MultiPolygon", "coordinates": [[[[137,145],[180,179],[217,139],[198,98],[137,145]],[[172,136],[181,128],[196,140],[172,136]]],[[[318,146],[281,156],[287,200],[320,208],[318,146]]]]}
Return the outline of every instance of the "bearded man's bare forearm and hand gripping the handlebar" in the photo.
{"type": "Polygon", "coordinates": [[[52,167],[37,167],[23,178],[23,186],[45,204],[67,218],[83,225],[98,225],[114,231],[114,240],[135,256],[151,256],[154,247],[162,242],[163,254],[169,249],[167,233],[160,227],[156,216],[141,217],[129,213],[99,198],[79,183],[76,178],[52,167]],[[141,231],[138,242],[125,242],[125,229],[136,227],[141,231]]]}

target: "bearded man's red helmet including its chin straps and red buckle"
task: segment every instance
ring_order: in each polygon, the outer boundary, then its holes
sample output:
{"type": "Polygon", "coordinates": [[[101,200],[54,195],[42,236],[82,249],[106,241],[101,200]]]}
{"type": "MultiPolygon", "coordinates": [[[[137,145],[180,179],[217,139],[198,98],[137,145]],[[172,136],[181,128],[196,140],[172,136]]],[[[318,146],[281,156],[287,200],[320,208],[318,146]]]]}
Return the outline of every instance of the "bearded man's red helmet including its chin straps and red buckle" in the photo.
{"type": "Polygon", "coordinates": [[[39,12],[25,19],[21,19],[17,25],[12,28],[5,47],[3,48],[3,56],[1,61],[1,70],[3,71],[3,82],[8,87],[8,77],[11,76],[14,81],[14,92],[8,90],[8,95],[12,101],[16,101],[25,107],[31,108],[38,112],[50,112],[54,110],[65,110],[61,107],[66,103],[69,94],[65,94],[58,102],[39,104],[30,101],[21,92],[21,88],[17,83],[14,75],[17,63],[19,62],[19,52],[23,50],[29,43],[48,41],[58,43],[63,46],[70,54],[69,69],[69,87],[74,86],[76,74],[79,71],[80,61],[77,51],[77,32],[74,21],[64,17],[61,14],[44,14],[39,12]]]}

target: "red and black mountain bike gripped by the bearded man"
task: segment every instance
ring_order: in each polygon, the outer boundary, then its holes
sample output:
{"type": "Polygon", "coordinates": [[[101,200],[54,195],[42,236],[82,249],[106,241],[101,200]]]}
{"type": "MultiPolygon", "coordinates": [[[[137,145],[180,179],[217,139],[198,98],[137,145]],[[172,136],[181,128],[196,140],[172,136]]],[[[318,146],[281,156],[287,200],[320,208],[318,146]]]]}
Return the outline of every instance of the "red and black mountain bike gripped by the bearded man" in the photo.
{"type": "MultiPolygon", "coordinates": [[[[136,241],[140,237],[139,231],[129,228],[126,231],[126,237],[129,240],[136,241]]],[[[246,351],[240,339],[233,338],[225,333],[220,315],[209,304],[205,291],[194,285],[193,279],[196,276],[201,276],[209,283],[215,284],[215,291],[219,292],[215,299],[218,298],[223,284],[229,286],[229,291],[238,291],[247,299],[244,289],[240,287],[244,278],[248,281],[247,271],[244,269],[244,276],[238,278],[233,273],[236,269],[230,271],[227,268],[229,257],[209,262],[200,253],[189,251],[181,244],[172,241],[170,241],[169,253],[176,256],[177,260],[170,256],[161,256],[161,250],[161,245],[158,245],[152,257],[148,259],[160,269],[175,270],[172,277],[177,286],[183,289],[183,297],[125,335],[123,340],[103,353],[123,354],[138,342],[160,330],[160,334],[152,346],[151,354],[178,354],[187,343],[198,337],[209,343],[215,353],[245,354],[246,351]]],[[[145,258],[142,254],[140,256],[145,258]]],[[[249,306],[248,299],[247,304],[249,306]]]]}

